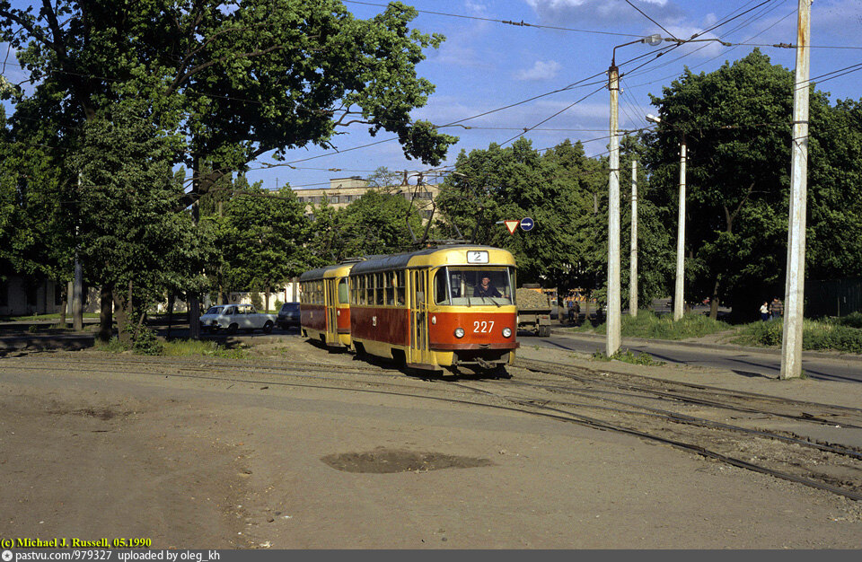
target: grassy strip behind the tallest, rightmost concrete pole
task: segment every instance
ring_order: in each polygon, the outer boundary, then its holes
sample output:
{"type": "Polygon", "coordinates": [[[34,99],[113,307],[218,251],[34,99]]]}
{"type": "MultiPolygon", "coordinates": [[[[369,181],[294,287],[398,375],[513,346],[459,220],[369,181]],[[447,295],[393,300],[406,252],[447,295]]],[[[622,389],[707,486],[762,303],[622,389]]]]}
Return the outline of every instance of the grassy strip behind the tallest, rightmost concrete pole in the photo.
{"type": "MultiPolygon", "coordinates": [[[[862,314],[854,312],[844,318],[805,320],[802,323],[802,348],[862,354],[862,314]]],[[[735,344],[778,347],[784,333],[783,321],[752,322],[741,328],[735,344]]]]}

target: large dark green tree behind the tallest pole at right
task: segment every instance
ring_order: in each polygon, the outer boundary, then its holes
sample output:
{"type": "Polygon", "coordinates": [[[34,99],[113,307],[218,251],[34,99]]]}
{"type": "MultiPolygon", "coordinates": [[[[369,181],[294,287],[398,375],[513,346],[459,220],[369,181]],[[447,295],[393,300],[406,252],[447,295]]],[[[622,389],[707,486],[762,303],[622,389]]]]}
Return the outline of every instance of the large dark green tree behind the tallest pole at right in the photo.
{"type": "MultiPolygon", "coordinates": [[[[663,93],[645,162],[662,222],[675,224],[685,136],[687,297],[710,297],[713,315],[720,300],[750,317],[758,301],[784,294],[793,75],[755,49],[709,74],[686,69],[663,93]]],[[[860,216],[858,104],[831,107],[816,90],[810,104],[808,274],[848,275],[859,256],[843,230],[860,216]]]]}

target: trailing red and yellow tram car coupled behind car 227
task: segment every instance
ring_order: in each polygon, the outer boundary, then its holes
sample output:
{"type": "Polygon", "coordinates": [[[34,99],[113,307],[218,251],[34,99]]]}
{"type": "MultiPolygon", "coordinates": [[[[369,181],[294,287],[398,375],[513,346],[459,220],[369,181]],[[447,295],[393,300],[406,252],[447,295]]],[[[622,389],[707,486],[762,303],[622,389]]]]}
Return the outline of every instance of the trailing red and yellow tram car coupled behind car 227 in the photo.
{"type": "Polygon", "coordinates": [[[350,347],[350,304],[347,275],[355,263],[342,263],[303,273],[300,283],[300,329],[323,345],[350,347]]]}

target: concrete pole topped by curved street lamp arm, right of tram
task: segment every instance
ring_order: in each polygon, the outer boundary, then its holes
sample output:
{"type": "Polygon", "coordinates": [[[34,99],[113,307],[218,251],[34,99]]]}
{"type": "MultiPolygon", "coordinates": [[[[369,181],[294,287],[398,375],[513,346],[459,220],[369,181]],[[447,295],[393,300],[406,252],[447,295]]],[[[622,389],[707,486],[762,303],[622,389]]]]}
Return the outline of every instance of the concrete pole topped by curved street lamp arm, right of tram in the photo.
{"type": "Polygon", "coordinates": [[[605,353],[620,350],[620,139],[617,137],[620,101],[620,69],[611,61],[611,175],[608,180],[608,319],[605,353]]]}

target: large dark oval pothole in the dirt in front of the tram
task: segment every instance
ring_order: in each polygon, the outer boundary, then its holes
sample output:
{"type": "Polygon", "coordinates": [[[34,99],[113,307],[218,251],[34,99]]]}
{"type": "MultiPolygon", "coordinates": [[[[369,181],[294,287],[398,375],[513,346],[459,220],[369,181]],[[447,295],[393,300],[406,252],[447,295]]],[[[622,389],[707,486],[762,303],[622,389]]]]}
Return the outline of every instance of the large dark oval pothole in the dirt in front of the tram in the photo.
{"type": "Polygon", "coordinates": [[[343,472],[391,474],[393,472],[427,472],[443,469],[475,469],[494,466],[488,459],[462,457],[440,452],[414,452],[378,447],[370,452],[343,452],[321,457],[321,461],[343,472]]]}

